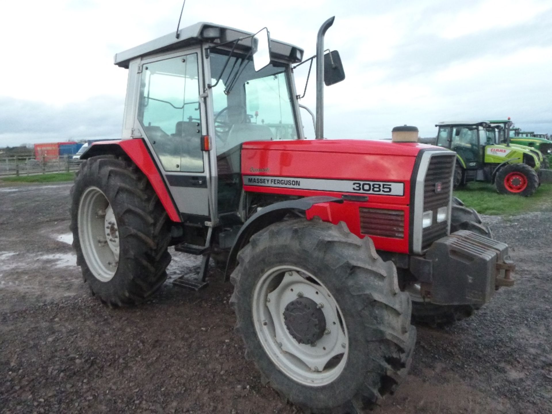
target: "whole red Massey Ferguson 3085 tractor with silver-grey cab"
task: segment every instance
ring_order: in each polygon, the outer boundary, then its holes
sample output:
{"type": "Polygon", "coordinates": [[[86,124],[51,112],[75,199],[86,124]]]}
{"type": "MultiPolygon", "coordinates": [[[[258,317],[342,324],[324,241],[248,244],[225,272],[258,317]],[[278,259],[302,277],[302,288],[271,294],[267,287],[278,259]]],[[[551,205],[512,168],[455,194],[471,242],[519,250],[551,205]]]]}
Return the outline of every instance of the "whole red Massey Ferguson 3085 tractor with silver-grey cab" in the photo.
{"type": "Polygon", "coordinates": [[[198,23],[117,54],[123,139],[81,157],[72,231],[84,280],[112,306],[163,284],[169,246],[203,257],[184,285],[224,264],[263,380],[309,412],[357,413],[406,375],[412,311],[468,316],[513,283],[513,263],[453,205],[454,152],[408,142],[407,126],[395,142],[323,139],[324,83],[344,78],[324,52],[332,23],[317,39],[315,140],[293,81],[303,50],[267,29],[198,23]]]}

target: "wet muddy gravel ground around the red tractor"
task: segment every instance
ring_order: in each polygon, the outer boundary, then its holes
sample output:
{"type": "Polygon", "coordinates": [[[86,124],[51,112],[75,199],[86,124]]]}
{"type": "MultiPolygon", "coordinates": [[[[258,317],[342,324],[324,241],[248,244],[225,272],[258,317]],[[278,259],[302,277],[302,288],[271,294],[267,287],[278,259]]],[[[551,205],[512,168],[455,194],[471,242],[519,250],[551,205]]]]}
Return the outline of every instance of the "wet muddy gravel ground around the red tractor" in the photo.
{"type": "MultiPolygon", "coordinates": [[[[68,244],[70,187],[0,187],[0,412],[296,412],[243,358],[216,271],[206,290],[166,283],[134,309],[92,298],[68,244]]],[[[419,327],[378,412],[552,412],[552,214],[487,219],[516,285],[453,327],[419,327]]],[[[195,263],[179,253],[170,277],[195,263]]]]}

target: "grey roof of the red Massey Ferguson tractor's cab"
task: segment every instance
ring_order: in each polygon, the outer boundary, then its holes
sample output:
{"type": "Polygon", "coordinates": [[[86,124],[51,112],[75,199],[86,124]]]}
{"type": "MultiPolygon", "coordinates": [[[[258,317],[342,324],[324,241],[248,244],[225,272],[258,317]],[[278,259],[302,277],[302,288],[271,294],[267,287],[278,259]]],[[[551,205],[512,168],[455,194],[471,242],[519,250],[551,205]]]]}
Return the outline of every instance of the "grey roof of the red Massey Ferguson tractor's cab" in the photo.
{"type": "MultiPolygon", "coordinates": [[[[253,33],[213,23],[199,22],[180,29],[178,34],[178,39],[173,32],[115,54],[114,63],[119,67],[128,69],[130,61],[136,57],[177,50],[194,44],[199,45],[200,42],[208,42],[215,45],[223,44],[251,36],[253,33]]],[[[250,39],[241,40],[236,45],[236,49],[241,51],[249,50],[250,48],[250,39]]],[[[270,39],[270,55],[272,57],[299,63],[303,58],[303,53],[304,50],[298,46],[270,39]]]]}

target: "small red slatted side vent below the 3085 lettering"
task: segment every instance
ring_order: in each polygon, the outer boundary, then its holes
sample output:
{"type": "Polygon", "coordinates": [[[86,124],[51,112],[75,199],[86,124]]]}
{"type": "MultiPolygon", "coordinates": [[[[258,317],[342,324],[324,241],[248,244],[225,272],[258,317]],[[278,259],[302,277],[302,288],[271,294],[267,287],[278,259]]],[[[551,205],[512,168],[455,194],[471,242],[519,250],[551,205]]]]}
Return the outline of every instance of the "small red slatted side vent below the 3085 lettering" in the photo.
{"type": "Polygon", "coordinates": [[[360,207],[360,232],[368,236],[405,237],[405,212],[360,207]]]}

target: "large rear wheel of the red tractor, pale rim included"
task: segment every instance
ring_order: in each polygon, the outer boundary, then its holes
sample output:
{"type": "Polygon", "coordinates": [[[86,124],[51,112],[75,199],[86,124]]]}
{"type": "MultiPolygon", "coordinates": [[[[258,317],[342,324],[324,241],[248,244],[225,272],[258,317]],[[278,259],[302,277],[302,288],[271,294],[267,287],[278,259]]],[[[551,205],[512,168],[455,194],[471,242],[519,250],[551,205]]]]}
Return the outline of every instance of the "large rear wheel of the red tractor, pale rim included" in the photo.
{"type": "Polygon", "coordinates": [[[77,264],[92,294],[110,306],[135,305],[167,278],[167,213],[147,178],[114,156],[84,160],[71,189],[77,264]]]}

